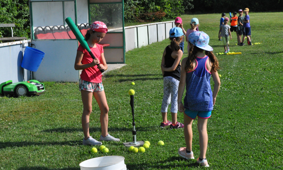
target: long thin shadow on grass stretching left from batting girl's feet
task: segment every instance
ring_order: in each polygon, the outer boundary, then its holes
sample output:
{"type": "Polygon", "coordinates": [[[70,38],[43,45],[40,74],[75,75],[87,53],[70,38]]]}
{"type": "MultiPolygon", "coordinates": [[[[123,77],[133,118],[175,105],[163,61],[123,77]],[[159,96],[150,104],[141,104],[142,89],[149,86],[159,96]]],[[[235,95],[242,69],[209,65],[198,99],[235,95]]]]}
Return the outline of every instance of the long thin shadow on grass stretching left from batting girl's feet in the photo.
{"type": "Polygon", "coordinates": [[[30,142],[30,141],[22,141],[22,142],[0,142],[0,149],[6,147],[23,147],[23,146],[32,146],[32,145],[69,145],[69,146],[77,146],[81,145],[82,140],[77,141],[62,141],[62,142],[30,142]]]}

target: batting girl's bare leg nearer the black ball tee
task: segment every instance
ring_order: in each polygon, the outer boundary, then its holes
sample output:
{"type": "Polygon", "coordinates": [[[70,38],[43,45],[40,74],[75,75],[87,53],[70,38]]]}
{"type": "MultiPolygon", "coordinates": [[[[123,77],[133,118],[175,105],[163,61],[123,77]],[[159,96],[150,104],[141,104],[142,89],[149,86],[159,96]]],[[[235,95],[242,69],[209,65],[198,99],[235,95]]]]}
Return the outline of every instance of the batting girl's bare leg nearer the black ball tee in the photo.
{"type": "Polygon", "coordinates": [[[109,107],[107,104],[105,92],[104,90],[101,92],[93,92],[93,96],[95,96],[100,109],[101,135],[105,137],[108,135],[108,112],[109,112],[109,107]]]}

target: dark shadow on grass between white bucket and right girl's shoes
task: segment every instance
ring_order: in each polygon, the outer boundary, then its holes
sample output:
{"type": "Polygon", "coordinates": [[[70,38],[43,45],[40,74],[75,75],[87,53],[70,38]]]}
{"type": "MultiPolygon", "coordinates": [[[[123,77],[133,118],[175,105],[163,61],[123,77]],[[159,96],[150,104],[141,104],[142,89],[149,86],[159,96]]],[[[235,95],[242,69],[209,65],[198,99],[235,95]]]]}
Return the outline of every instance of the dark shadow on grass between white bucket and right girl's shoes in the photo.
{"type": "Polygon", "coordinates": [[[154,164],[148,164],[148,163],[141,163],[141,164],[137,164],[137,163],[127,163],[126,166],[127,166],[127,169],[148,169],[149,167],[150,168],[158,168],[158,169],[175,169],[177,166],[180,166],[180,167],[184,167],[184,168],[190,168],[190,167],[198,167],[199,164],[196,163],[195,160],[188,160],[186,161],[187,164],[180,164],[180,165],[176,165],[174,163],[175,160],[177,161],[180,161],[181,157],[171,157],[171,158],[168,158],[167,160],[164,160],[164,161],[159,161],[159,162],[156,162],[154,164]],[[170,163],[172,162],[172,163],[170,163]],[[166,165],[164,165],[166,164],[166,165]]]}

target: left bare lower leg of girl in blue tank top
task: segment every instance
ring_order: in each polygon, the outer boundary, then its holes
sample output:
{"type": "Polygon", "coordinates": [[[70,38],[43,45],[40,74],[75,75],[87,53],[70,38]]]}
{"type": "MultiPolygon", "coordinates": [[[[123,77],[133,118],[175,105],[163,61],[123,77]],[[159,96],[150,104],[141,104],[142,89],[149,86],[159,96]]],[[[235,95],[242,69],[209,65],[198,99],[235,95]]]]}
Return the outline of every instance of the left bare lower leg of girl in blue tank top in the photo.
{"type": "Polygon", "coordinates": [[[193,124],[193,119],[188,117],[184,113],[184,136],[185,136],[185,142],[186,142],[186,150],[187,151],[192,151],[192,142],[193,142],[193,129],[192,129],[192,124],[193,124]]]}

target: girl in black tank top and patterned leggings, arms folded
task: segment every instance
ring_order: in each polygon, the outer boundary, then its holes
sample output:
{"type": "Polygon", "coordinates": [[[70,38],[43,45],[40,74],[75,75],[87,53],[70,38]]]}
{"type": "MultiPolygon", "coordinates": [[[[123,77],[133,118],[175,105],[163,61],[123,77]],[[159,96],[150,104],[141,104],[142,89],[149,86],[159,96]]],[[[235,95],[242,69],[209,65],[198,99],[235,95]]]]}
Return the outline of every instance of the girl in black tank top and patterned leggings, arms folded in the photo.
{"type": "Polygon", "coordinates": [[[161,105],[161,128],[165,128],[166,126],[170,126],[171,129],[184,128],[184,124],[177,121],[178,86],[181,74],[180,60],[183,55],[183,52],[180,49],[180,42],[182,41],[183,35],[181,28],[172,28],[169,31],[171,44],[165,48],[162,56],[161,71],[163,74],[163,100],[161,105]],[[167,109],[170,103],[172,122],[167,120],[167,109]]]}

